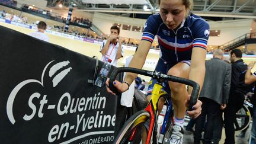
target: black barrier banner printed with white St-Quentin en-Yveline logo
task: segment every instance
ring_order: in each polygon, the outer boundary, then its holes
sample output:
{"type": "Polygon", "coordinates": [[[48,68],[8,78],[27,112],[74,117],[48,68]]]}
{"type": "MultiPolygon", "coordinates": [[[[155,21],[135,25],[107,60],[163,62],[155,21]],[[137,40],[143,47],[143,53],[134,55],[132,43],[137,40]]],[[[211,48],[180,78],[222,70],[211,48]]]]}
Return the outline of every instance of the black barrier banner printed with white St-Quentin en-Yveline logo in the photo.
{"type": "Polygon", "coordinates": [[[5,27],[0,33],[1,143],[112,143],[120,105],[88,84],[95,59],[5,27]]]}

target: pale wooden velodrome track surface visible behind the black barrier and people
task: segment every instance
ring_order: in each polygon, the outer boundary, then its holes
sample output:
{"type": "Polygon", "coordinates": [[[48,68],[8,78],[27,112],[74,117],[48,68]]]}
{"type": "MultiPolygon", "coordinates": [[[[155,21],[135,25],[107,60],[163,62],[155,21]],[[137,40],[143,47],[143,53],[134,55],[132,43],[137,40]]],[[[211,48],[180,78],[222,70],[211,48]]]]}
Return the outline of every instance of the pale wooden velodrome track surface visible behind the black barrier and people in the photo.
{"type": "MultiPolygon", "coordinates": [[[[12,25],[12,24],[2,23],[2,22],[0,22],[0,25],[11,28],[12,30],[20,31],[21,33],[24,33],[24,34],[28,34],[34,31],[29,28],[24,28],[17,25],[12,25]]],[[[86,55],[89,57],[98,56],[98,58],[101,59],[100,44],[88,43],[81,40],[68,39],[66,37],[60,37],[53,34],[47,34],[47,36],[49,36],[50,43],[57,44],[59,46],[65,47],[66,49],[81,53],[82,55],[86,55]]],[[[117,67],[123,66],[125,63],[125,57],[133,55],[134,53],[135,53],[134,50],[124,49],[124,57],[119,59],[117,63],[117,67]]],[[[158,58],[159,58],[159,55],[156,53],[149,53],[147,56],[147,59],[153,60],[155,62],[157,62],[158,58]]],[[[252,60],[256,60],[256,57],[243,57],[243,59],[244,59],[244,62],[248,64],[252,60]]],[[[153,71],[154,67],[144,66],[143,69],[153,71]]],[[[254,71],[256,71],[256,68],[252,69],[252,72],[254,71]]],[[[146,78],[144,76],[142,77],[146,81],[149,81],[149,78],[146,78]]]]}

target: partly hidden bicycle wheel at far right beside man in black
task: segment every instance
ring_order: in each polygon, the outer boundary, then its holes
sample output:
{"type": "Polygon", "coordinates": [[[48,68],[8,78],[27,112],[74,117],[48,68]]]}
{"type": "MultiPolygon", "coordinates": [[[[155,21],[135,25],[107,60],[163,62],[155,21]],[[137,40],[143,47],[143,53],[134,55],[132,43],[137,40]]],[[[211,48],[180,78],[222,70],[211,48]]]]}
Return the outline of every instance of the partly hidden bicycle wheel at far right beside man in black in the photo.
{"type": "Polygon", "coordinates": [[[236,113],[236,119],[233,122],[235,131],[241,131],[246,129],[249,126],[250,121],[251,113],[249,112],[249,109],[245,105],[243,105],[238,113],[236,113]],[[241,110],[242,113],[240,113],[241,110]],[[244,123],[242,123],[242,120],[244,120],[244,123]]]}

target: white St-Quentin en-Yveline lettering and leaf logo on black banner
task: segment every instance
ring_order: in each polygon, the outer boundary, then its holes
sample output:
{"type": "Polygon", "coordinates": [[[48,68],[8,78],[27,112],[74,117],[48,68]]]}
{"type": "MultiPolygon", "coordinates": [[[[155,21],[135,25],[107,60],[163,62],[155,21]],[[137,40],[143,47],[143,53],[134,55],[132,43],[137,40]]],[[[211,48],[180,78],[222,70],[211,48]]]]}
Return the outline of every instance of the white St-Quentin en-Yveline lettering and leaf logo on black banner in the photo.
{"type": "MultiPolygon", "coordinates": [[[[59,87],[62,87],[66,84],[65,78],[71,75],[69,73],[72,72],[70,62],[67,60],[50,66],[52,62],[54,62],[54,60],[44,66],[40,80],[27,79],[20,82],[14,89],[12,89],[7,100],[7,116],[12,124],[15,124],[16,121],[18,121],[18,118],[14,117],[17,116],[14,115],[14,101],[15,98],[18,97],[18,92],[21,91],[25,85],[36,84],[43,88],[47,88],[49,87],[49,82],[45,82],[44,84],[46,75],[49,76],[50,83],[52,83],[52,86],[50,87],[54,89],[58,85],[59,87]],[[47,72],[47,70],[49,70],[49,72],[47,72]],[[62,82],[61,85],[60,82],[62,82]]],[[[63,120],[68,120],[70,122],[61,121],[53,123],[53,125],[49,124],[49,127],[45,127],[47,130],[49,129],[49,133],[46,134],[48,135],[48,142],[56,142],[56,140],[60,140],[57,142],[71,143],[75,140],[83,139],[81,143],[106,143],[114,140],[113,127],[116,122],[116,114],[107,114],[109,113],[109,111],[105,110],[107,98],[101,96],[100,92],[97,92],[97,94],[93,93],[92,95],[72,97],[72,93],[62,91],[63,93],[60,97],[55,96],[55,100],[57,99],[57,102],[55,103],[50,103],[50,100],[52,99],[47,98],[48,94],[42,94],[43,92],[37,91],[32,94],[28,93],[28,105],[25,105],[28,107],[28,110],[23,111],[24,113],[21,114],[20,117],[25,121],[33,121],[38,120],[38,118],[43,120],[43,118],[47,116],[65,116],[63,117],[63,120]],[[47,113],[47,110],[56,110],[57,115],[50,115],[47,113]],[[75,114],[75,116],[71,116],[71,114],[75,114]],[[69,119],[68,115],[75,119],[69,119]],[[69,136],[69,139],[65,142],[61,142],[61,139],[65,138],[67,135],[69,136]],[[98,136],[95,137],[94,135],[98,136]],[[89,138],[84,139],[85,137],[89,138]]],[[[20,105],[20,107],[23,107],[23,105],[20,105]]]]}

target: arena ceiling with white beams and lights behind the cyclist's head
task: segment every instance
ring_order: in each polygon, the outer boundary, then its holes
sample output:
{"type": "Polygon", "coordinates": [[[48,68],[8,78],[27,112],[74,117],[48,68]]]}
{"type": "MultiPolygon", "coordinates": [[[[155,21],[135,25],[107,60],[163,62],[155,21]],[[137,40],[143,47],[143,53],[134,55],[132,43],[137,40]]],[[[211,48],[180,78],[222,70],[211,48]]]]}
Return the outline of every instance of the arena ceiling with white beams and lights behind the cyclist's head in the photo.
{"type": "MultiPolygon", "coordinates": [[[[48,0],[52,7],[60,2],[66,7],[76,8],[76,11],[116,15],[159,12],[158,0],[48,0]]],[[[193,12],[203,17],[256,19],[256,0],[194,0],[193,12]]]]}

